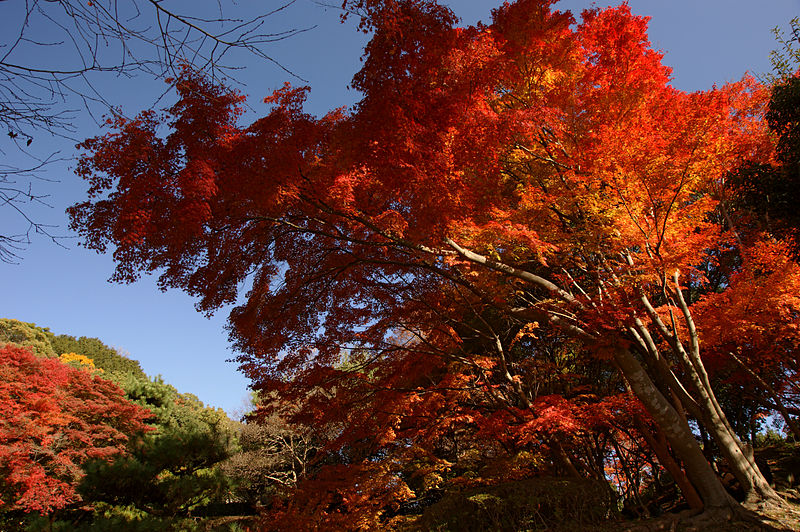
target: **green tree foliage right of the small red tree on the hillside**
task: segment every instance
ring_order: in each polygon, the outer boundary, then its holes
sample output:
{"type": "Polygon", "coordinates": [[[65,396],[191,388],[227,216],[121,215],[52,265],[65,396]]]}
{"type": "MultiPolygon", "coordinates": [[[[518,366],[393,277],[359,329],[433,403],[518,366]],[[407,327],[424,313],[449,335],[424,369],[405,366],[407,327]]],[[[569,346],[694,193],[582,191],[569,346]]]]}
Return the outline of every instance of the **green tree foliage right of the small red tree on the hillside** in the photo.
{"type": "Polygon", "coordinates": [[[84,500],[161,517],[191,515],[224,500],[232,486],[217,465],[236,449],[235,423],[160,377],[126,374],[120,384],[129,399],[150,409],[157,430],[136,442],[129,457],[87,467],[84,500]]]}

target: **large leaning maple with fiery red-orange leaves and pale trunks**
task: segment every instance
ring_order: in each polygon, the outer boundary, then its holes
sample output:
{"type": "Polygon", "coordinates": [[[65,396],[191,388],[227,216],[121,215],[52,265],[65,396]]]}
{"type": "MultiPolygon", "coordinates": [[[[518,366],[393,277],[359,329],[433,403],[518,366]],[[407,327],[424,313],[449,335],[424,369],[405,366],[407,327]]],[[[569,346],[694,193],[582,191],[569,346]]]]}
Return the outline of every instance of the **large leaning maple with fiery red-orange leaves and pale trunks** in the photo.
{"type": "MultiPolygon", "coordinates": [[[[312,389],[353,351],[366,353],[365,378],[392,369],[383,387],[441,360],[488,358],[487,391],[507,407],[561,412],[550,420],[567,427],[574,398],[540,408],[525,378],[536,349],[516,345],[559,331],[618,372],[609,396],[638,398],[654,423],[641,426],[658,432],[648,442],[684,472],[693,505],[731,502],[689,419],[750,501],[775,500],[703,359],[706,344],[739,330],[769,345],[763,328],[715,325],[750,323],[774,303],[737,296],[764,279],[746,272],[770,238],[737,240],[721,192],[742,161],[773,157],[763,88],[745,78],[675,89],[647,20],[625,5],[576,25],[550,1],[519,0],[491,25],[457,28],[433,1],[348,4],[373,32],[353,110],[313,117],[307,89],[287,85],[266,99],[267,116],[240,127],[241,96],[187,74],[165,115],[117,119],[83,144],[91,198],[71,209],[72,225],[90,248],[114,246],[114,278],[159,271],[162,287],[198,296],[203,311],[249,285],[231,335],[264,387],[299,377],[312,389]],[[742,273],[712,289],[722,250],[742,273]]],[[[797,266],[782,264],[765,296],[795,287],[797,266]]],[[[783,303],[796,315],[794,299],[783,303]]]]}

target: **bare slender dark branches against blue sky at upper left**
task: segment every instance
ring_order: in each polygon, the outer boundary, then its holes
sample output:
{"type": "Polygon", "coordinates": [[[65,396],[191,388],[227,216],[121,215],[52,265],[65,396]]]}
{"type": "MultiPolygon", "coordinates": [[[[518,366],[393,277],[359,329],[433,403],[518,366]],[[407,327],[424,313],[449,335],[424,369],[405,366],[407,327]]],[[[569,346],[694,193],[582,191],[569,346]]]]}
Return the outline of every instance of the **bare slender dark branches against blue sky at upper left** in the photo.
{"type": "MultiPolygon", "coordinates": [[[[37,137],[72,140],[81,112],[95,118],[117,113],[119,102],[104,88],[109,77],[169,80],[188,68],[235,82],[241,68],[237,53],[242,52],[298,77],[268,50],[311,29],[269,27],[275,15],[295,2],[272,3],[262,14],[244,18],[237,16],[241,9],[222,0],[202,7],[192,4],[189,12],[168,0],[0,4],[6,27],[14,28],[0,38],[0,138],[32,161],[27,168],[0,166],[0,208],[13,211],[19,222],[19,229],[0,234],[0,261],[17,260],[32,235],[61,240],[54,227],[36,221],[30,209],[46,197],[34,186],[42,170],[62,160],[56,154],[42,158],[31,152],[39,144],[33,144],[37,137]]],[[[5,150],[0,145],[0,153],[5,150]]]]}

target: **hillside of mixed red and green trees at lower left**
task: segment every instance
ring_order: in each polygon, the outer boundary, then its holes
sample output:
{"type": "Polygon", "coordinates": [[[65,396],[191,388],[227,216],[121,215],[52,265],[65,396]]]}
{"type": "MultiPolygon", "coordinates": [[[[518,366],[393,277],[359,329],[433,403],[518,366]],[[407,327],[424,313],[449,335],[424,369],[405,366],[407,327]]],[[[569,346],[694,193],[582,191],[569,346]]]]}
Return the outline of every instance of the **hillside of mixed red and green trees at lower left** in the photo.
{"type": "Polygon", "coordinates": [[[0,319],[0,376],[3,530],[188,530],[243,500],[240,424],[101,340],[0,319]]]}

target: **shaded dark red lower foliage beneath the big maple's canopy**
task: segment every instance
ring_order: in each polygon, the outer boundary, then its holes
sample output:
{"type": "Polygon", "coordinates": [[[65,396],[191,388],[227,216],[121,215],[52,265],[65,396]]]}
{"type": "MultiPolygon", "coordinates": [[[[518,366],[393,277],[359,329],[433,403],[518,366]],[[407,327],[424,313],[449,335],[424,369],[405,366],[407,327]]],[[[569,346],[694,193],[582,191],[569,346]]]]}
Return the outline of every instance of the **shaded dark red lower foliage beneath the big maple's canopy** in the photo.
{"type": "MultiPolygon", "coordinates": [[[[262,383],[277,396],[262,405],[256,421],[293,405],[290,426],[297,422],[329,435],[317,467],[265,514],[266,522],[280,523],[279,530],[389,529],[391,516],[409,501],[445,489],[564,474],[564,456],[597,477],[610,455],[608,443],[597,441],[627,440],[635,433],[633,416],[646,417],[630,395],[601,398],[609,383],[559,375],[565,368],[555,364],[533,365],[521,375],[548,380],[541,385],[543,394],[560,394],[542,395],[531,408],[520,408],[512,406],[517,401],[502,379],[492,376],[491,360],[444,364],[412,352],[369,366],[358,362],[309,370],[290,382],[262,383]]],[[[570,364],[581,362],[592,363],[576,358],[570,364]]]]}

